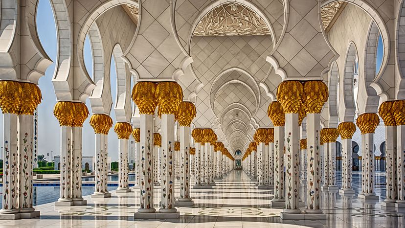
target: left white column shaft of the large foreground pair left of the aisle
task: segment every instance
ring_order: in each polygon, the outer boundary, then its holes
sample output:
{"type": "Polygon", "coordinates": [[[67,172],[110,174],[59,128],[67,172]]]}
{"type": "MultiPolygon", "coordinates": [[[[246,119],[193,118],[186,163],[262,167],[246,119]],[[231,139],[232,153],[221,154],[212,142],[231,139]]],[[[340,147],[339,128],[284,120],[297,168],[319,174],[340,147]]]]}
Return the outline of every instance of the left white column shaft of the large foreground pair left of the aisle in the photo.
{"type": "Polygon", "coordinates": [[[153,114],[140,114],[140,213],[153,213],[153,114]]]}

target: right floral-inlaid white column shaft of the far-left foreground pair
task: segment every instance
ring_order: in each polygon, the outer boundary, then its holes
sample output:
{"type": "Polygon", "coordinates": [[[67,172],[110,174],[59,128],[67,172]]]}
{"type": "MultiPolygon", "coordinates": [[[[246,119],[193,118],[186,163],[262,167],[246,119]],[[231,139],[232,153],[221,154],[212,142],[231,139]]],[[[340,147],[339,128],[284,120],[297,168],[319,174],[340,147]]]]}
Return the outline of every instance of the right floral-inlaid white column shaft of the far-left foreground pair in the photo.
{"type": "MultiPolygon", "coordinates": [[[[32,150],[34,141],[34,116],[19,115],[19,210],[22,213],[32,213],[32,150]]],[[[37,211],[39,215],[39,211],[37,211]]],[[[30,216],[32,217],[32,216],[30,216]]]]}

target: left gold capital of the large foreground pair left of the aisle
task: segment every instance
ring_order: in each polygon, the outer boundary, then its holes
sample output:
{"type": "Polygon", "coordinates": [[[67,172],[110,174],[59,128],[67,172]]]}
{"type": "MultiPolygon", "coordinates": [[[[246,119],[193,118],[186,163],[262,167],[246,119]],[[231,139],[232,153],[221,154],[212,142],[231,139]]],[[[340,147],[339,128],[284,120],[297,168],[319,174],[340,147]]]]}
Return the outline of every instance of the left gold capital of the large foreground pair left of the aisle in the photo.
{"type": "Polygon", "coordinates": [[[157,101],[155,99],[156,84],[153,82],[138,82],[132,89],[132,100],[140,114],[155,114],[157,101]]]}

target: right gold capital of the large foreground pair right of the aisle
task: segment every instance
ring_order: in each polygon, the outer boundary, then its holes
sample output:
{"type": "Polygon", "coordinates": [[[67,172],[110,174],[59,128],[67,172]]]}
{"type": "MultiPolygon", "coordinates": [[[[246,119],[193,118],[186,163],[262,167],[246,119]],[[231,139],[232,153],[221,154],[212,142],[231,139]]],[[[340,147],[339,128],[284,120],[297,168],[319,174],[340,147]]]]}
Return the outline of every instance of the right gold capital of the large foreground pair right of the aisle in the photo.
{"type": "Polygon", "coordinates": [[[307,113],[320,113],[328,100],[328,87],[322,81],[306,81],[304,83],[304,106],[307,113]]]}

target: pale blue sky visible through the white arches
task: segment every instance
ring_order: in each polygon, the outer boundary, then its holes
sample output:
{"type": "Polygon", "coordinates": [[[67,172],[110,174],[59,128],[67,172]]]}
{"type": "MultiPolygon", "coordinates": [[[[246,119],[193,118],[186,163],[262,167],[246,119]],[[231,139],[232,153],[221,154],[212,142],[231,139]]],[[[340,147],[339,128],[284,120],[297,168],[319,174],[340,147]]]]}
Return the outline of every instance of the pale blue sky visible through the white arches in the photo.
{"type": "MultiPolygon", "coordinates": [[[[53,85],[51,79],[55,71],[55,62],[56,62],[56,28],[55,21],[53,17],[52,8],[50,6],[49,0],[39,0],[38,13],[37,13],[37,30],[38,36],[40,38],[41,44],[44,47],[49,58],[54,62],[45,72],[39,80],[39,88],[42,91],[42,103],[38,106],[38,154],[45,155],[49,153],[51,155],[60,154],[60,127],[58,120],[53,116],[53,107],[56,104],[56,95],[53,90],[53,85]]],[[[381,37],[379,39],[377,47],[377,72],[380,70],[382,62],[382,53],[383,45],[381,37]]],[[[107,56],[106,56],[107,57],[107,56]]],[[[111,57],[111,56],[110,56],[111,57]]],[[[92,58],[91,58],[91,47],[90,41],[87,38],[84,46],[84,60],[87,71],[92,78],[92,58]]],[[[132,87],[132,86],[131,86],[132,87]]],[[[111,92],[112,92],[112,107],[115,103],[115,94],[116,94],[116,72],[115,72],[115,63],[112,58],[111,61],[111,92]]],[[[83,124],[83,156],[94,156],[95,154],[95,135],[94,131],[91,128],[89,121],[91,116],[91,108],[89,99],[86,102],[86,105],[89,109],[90,115],[89,118],[83,124]]],[[[112,120],[115,124],[115,114],[111,112],[112,120]]],[[[0,113],[0,123],[2,125],[3,114],[0,113]]],[[[0,138],[2,138],[2,131],[0,131],[0,138]]],[[[110,129],[108,135],[108,153],[109,157],[112,158],[112,161],[118,160],[118,138],[113,131],[113,128],[110,129]]]]}

